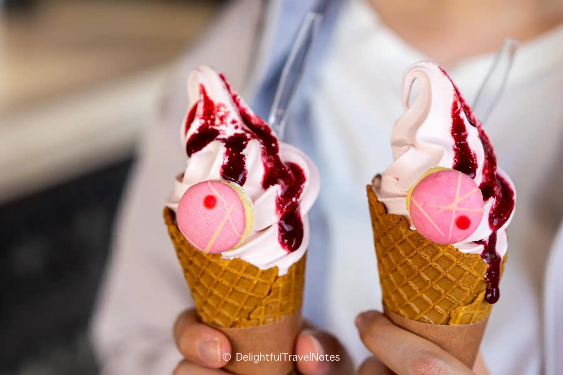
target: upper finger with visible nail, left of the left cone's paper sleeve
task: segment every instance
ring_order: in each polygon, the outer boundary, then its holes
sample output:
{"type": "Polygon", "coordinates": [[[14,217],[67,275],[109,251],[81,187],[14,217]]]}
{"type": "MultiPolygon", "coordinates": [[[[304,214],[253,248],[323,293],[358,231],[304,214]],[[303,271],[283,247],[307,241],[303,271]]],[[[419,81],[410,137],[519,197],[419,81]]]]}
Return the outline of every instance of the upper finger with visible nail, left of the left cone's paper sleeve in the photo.
{"type": "Polygon", "coordinates": [[[221,332],[199,323],[195,310],[184,311],[176,320],[174,340],[180,353],[191,363],[220,368],[231,353],[229,340],[221,332]]]}

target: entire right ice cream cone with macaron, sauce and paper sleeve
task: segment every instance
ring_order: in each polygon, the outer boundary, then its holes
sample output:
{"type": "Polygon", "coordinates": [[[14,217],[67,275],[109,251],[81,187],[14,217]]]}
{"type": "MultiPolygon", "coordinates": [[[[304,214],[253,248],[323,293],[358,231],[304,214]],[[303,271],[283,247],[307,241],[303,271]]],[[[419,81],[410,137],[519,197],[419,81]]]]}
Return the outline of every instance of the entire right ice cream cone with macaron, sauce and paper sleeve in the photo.
{"type": "Polygon", "coordinates": [[[367,187],[383,308],[472,367],[501,295],[516,190],[444,69],[411,65],[403,105],[393,162],[367,187]]]}

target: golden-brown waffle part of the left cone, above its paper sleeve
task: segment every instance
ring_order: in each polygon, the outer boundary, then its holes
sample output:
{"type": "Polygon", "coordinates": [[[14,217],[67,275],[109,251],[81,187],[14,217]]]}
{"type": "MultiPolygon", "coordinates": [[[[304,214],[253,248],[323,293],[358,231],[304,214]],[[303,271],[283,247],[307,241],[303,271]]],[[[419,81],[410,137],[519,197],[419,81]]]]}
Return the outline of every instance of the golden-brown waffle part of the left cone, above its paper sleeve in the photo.
{"type": "Polygon", "coordinates": [[[306,256],[287,274],[278,276],[278,267],[261,270],[238,258],[224,260],[220,254],[195,249],[168,208],[164,209],[164,221],[204,323],[226,328],[261,326],[301,309],[306,256]]]}

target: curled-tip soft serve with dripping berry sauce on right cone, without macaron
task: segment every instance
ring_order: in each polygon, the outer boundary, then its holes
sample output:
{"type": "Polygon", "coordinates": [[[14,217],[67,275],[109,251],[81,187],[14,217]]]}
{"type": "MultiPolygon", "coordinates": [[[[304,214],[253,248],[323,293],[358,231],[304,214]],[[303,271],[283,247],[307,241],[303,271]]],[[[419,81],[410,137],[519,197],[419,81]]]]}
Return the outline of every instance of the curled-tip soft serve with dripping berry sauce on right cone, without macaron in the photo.
{"type": "Polygon", "coordinates": [[[498,299],[500,265],[507,252],[505,229],[512,219],[515,188],[497,168],[497,158],[480,121],[473,115],[448,75],[428,61],[412,65],[403,83],[405,114],[391,134],[394,162],[374,181],[374,191],[388,214],[404,216],[416,229],[407,210],[407,196],[427,170],[443,167],[468,175],[479,187],[484,213],[475,232],[452,245],[468,254],[480,254],[489,264],[486,300],[498,299]],[[418,95],[409,106],[415,80],[418,95]]]}

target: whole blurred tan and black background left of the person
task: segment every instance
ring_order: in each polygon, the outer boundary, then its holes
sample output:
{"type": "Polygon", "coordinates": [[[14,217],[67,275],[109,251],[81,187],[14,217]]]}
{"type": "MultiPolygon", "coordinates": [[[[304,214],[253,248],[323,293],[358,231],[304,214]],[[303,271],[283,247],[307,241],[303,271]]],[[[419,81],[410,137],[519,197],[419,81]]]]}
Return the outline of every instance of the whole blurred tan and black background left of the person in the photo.
{"type": "Polygon", "coordinates": [[[225,3],[0,0],[0,375],[97,373],[86,329],[137,138],[225,3]]]}

